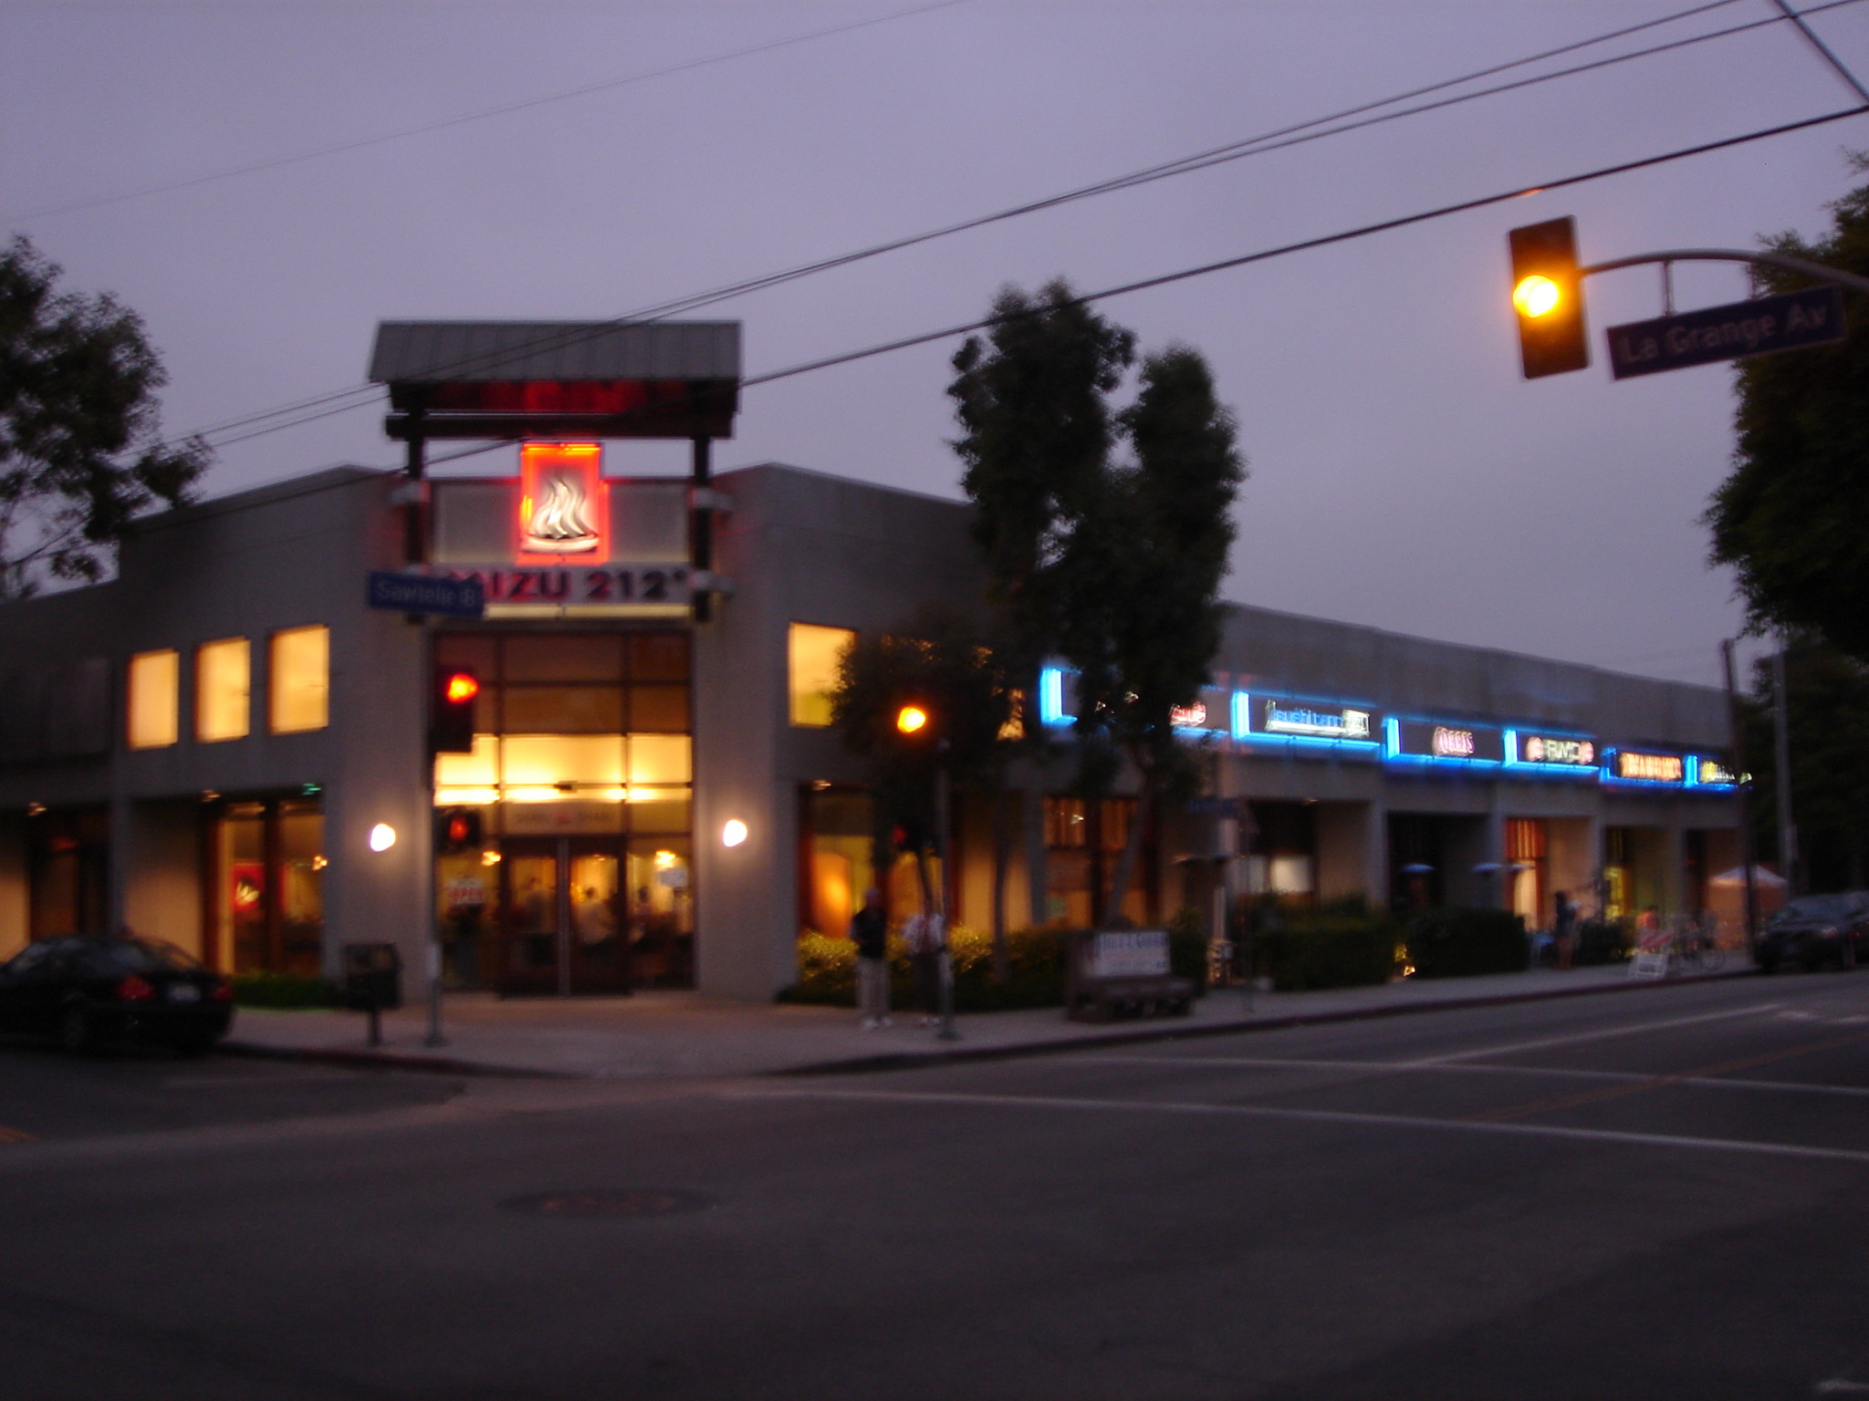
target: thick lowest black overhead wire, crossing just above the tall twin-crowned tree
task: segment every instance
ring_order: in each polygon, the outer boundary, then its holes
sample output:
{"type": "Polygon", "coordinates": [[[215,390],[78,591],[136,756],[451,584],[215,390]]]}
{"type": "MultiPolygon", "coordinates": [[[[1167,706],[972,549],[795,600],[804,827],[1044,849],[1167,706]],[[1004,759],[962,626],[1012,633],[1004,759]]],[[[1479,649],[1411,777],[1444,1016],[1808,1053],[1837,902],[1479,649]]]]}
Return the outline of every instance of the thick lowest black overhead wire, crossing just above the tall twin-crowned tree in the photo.
{"type": "MultiPolygon", "coordinates": [[[[1506,204],[1508,200],[1521,200],[1527,194],[1546,194],[1549,191],[1570,189],[1572,185],[1585,185],[1596,179],[1607,179],[1611,176],[1626,176],[1634,170],[1648,170],[1652,166],[1669,164],[1673,161],[1686,161],[1695,155],[1708,155],[1712,151],[1725,151],[1734,146],[1748,146],[1751,142],[1768,140],[1772,136],[1785,136],[1794,131],[1809,131],[1811,127],[1822,127],[1832,121],[1845,121],[1854,116],[1869,116],[1869,105],[1850,106],[1841,112],[1830,112],[1826,116],[1805,118],[1802,121],[1785,121],[1776,127],[1761,127],[1757,131],[1748,131],[1740,136],[1725,136],[1716,142],[1701,142],[1697,146],[1682,146],[1673,151],[1663,151],[1662,155],[1645,155],[1637,161],[1622,161],[1613,166],[1598,166],[1596,170],[1585,170],[1576,176],[1561,176],[1559,179],[1548,179],[1538,185],[1518,185],[1510,191],[1499,191],[1495,194],[1480,194],[1471,200],[1456,200],[1454,204],[1435,205],[1434,209],[1420,209],[1413,215],[1398,215],[1394,219],[1383,219],[1374,224],[1359,224],[1357,228],[1346,228],[1336,234],[1320,234],[1310,239],[1299,239],[1297,243],[1282,243],[1273,248],[1260,248],[1258,252],[1245,252],[1235,258],[1220,258],[1211,263],[1198,263],[1194,267],[1183,267],[1174,273],[1157,273],[1155,276],[1136,278],[1134,282],[1120,282],[1112,288],[1103,288],[1099,291],[1086,291],[1082,295],[1071,297],[1069,304],[1088,306],[1091,303],[1108,301],[1110,297],[1125,297],[1133,291],[1148,291],[1151,288],[1164,288],[1174,282],[1189,282],[1198,276],[1211,276],[1213,273],[1226,273],[1235,267],[1248,267],[1252,263],[1271,262],[1273,258],[1286,258],[1295,252],[1310,252],[1314,248],[1329,248],[1336,243],[1351,243],[1355,239],[1366,239],[1376,234],[1391,234],[1398,228],[1409,228],[1411,224],[1426,224],[1435,219],[1448,219],[1450,215],[1471,213],[1473,209],[1486,209],[1495,204],[1506,204]]],[[[830,370],[839,364],[852,364],[856,361],[869,361],[878,355],[892,355],[895,351],[912,349],[914,346],[929,346],[936,340],[953,340],[955,336],[966,336],[976,331],[991,331],[1013,318],[1007,316],[983,316],[976,321],[963,321],[959,325],[948,325],[938,331],[921,331],[914,336],[901,336],[897,340],[886,340],[877,346],[865,346],[854,351],[843,351],[839,355],[824,355],[815,361],[804,361],[800,364],[787,366],[783,370],[766,370],[764,374],[748,375],[740,381],[744,389],[753,389],[757,385],[770,385],[779,379],[794,379],[798,375],[815,374],[819,370],[830,370]]],[[[508,446],[516,439],[501,439],[497,443],[488,443],[486,446],[467,448],[464,452],[452,452],[437,461],[458,461],[460,458],[473,458],[482,452],[495,452],[508,446]]]]}

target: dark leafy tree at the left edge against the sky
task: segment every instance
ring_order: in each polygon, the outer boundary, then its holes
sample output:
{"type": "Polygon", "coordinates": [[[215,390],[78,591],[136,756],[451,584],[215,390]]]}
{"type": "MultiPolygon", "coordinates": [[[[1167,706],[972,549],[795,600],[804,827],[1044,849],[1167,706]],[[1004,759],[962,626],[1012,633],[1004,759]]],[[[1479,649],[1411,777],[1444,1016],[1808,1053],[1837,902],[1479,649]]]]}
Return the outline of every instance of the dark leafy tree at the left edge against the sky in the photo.
{"type": "Polygon", "coordinates": [[[131,519],[187,501],[209,456],[157,435],[168,377],[142,319],[56,291],[60,275],[24,237],[0,254],[0,601],[97,579],[131,519]]]}

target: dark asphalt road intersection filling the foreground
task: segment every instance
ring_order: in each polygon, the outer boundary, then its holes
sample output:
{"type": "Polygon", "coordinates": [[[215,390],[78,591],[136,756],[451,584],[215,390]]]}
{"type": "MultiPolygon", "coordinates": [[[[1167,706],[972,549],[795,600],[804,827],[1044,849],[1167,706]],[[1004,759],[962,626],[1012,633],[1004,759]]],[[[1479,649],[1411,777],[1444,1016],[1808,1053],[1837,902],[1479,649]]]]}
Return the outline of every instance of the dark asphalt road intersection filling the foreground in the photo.
{"type": "Polygon", "coordinates": [[[835,1080],[308,1074],[0,1052],[0,1397],[1869,1395],[1869,971],[835,1080]]]}

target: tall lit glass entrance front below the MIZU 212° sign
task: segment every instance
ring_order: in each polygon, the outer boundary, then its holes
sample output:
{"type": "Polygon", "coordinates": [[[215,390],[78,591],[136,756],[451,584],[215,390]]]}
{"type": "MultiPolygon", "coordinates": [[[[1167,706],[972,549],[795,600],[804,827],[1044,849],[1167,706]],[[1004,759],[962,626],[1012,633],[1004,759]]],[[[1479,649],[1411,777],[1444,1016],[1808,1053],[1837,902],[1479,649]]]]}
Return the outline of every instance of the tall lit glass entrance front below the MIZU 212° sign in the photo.
{"type": "Polygon", "coordinates": [[[693,986],[688,633],[450,631],[435,663],[480,680],[473,753],[435,760],[447,983],[693,986]]]}

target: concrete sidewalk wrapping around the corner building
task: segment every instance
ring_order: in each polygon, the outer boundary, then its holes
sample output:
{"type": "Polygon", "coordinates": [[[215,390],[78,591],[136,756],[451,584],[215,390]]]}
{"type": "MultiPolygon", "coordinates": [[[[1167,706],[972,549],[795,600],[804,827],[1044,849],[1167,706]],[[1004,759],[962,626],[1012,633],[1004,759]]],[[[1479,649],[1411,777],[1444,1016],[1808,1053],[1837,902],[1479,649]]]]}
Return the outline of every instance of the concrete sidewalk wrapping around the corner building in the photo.
{"type": "MultiPolygon", "coordinates": [[[[1727,956],[1733,977],[1751,968],[1727,956]]],[[[1056,1007],[1020,1012],[968,1012],[961,1040],[944,1042],[897,1014],[893,1027],[863,1031],[856,1012],[649,992],[635,998],[514,999],[450,994],[443,1020],[447,1044],[424,1046],[428,1016],[407,1007],[383,1016],[383,1046],[364,1046],[361,1012],[267,1011],[243,1007],[222,1050],[235,1055],[340,1061],[454,1074],[551,1078],[705,1078],[757,1074],[837,1074],[936,1065],[955,1059],[1037,1055],[1086,1044],[1121,1044],[1262,1031],[1314,1022],[1398,1016],[1609,992],[1676,986],[1682,977],[1634,979],[1626,968],[1534,969],[1432,983],[1331,992],[1260,992],[1252,1007],[1237,988],[1211,992],[1189,1016],[1069,1022],[1056,1007]]]]}

